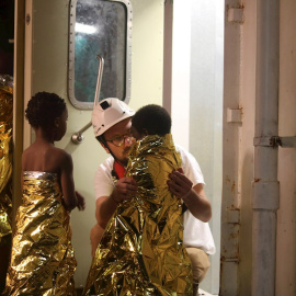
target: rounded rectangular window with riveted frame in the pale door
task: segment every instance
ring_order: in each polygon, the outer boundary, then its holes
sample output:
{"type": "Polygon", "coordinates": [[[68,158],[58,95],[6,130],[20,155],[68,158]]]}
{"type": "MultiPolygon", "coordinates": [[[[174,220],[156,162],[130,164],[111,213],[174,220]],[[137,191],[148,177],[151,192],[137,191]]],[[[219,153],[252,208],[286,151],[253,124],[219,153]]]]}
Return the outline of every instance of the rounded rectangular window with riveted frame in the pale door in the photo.
{"type": "Polygon", "coordinates": [[[93,107],[98,55],[104,60],[99,101],[129,101],[132,15],[129,1],[71,1],[68,92],[76,107],[93,107]]]}

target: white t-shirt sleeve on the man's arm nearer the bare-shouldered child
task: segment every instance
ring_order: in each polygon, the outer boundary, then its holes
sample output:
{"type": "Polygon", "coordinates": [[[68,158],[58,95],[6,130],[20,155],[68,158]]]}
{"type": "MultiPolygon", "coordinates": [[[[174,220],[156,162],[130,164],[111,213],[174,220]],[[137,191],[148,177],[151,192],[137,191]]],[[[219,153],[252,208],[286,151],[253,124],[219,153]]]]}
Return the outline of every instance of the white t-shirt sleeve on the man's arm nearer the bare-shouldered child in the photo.
{"type": "Polygon", "coordinates": [[[112,157],[107,158],[103,163],[101,163],[94,174],[94,194],[95,200],[102,196],[110,196],[114,190],[114,182],[112,179],[114,159],[112,157]]]}

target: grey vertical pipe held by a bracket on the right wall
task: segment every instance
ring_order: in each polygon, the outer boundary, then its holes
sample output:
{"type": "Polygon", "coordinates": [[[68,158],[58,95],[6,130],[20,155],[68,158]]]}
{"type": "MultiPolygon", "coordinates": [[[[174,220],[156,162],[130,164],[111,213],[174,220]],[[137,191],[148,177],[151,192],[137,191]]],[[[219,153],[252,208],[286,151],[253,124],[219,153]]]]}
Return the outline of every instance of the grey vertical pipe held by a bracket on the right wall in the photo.
{"type": "MultiPolygon", "coordinates": [[[[280,0],[257,1],[255,137],[278,135],[280,0]]],[[[277,147],[254,150],[252,295],[275,295],[277,147]]]]}

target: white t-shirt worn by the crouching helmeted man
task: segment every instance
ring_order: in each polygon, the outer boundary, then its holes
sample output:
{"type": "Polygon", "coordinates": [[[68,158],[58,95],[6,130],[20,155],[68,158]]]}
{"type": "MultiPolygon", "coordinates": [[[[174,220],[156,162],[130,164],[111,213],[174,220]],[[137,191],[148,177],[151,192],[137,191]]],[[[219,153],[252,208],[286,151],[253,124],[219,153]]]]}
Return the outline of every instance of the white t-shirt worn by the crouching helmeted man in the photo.
{"type": "MultiPolygon", "coordinates": [[[[179,145],[175,145],[175,149],[181,155],[182,169],[184,174],[193,183],[193,186],[198,183],[204,184],[204,177],[195,158],[179,145]]],[[[94,174],[94,192],[96,200],[102,196],[110,196],[114,190],[115,184],[111,174],[113,166],[114,159],[113,157],[109,157],[103,163],[99,166],[94,174]]],[[[208,224],[196,219],[190,213],[190,210],[186,210],[183,215],[184,246],[196,247],[204,250],[207,254],[214,254],[216,248],[208,224]]]]}

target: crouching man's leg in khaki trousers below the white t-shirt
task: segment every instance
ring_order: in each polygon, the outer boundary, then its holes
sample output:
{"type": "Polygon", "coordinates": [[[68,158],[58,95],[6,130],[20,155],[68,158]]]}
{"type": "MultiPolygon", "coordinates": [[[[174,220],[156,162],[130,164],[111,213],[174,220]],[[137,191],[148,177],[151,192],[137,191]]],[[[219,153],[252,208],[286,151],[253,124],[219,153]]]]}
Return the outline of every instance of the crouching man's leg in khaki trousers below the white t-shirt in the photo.
{"type": "Polygon", "coordinates": [[[198,295],[198,285],[205,278],[210,266],[208,254],[197,248],[186,248],[192,264],[193,296],[198,295]]]}

